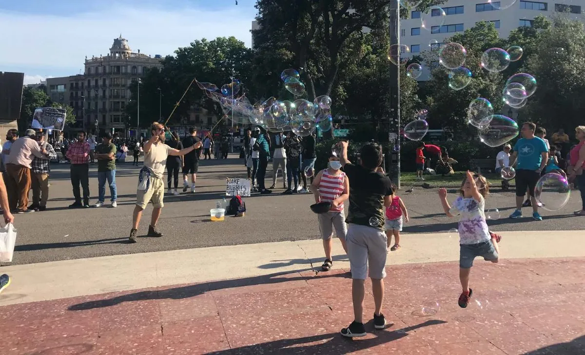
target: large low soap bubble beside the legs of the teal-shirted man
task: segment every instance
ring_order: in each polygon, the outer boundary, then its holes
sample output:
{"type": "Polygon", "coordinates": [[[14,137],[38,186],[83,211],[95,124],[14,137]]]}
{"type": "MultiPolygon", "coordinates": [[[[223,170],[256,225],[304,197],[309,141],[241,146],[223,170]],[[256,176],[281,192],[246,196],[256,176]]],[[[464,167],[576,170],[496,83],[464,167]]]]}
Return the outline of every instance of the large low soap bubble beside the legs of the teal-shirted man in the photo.
{"type": "Polygon", "coordinates": [[[560,174],[543,175],[536,183],[534,197],[545,210],[558,211],[565,207],[571,197],[569,182],[560,174]]]}

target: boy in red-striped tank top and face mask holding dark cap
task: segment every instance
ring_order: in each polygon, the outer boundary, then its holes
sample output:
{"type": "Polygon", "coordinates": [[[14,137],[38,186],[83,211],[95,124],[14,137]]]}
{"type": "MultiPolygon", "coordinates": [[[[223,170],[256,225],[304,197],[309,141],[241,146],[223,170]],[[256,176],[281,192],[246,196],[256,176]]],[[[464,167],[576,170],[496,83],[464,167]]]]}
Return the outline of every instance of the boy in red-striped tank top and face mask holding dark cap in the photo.
{"type": "Polygon", "coordinates": [[[323,249],[325,250],[325,262],[321,266],[323,271],[329,271],[333,265],[331,252],[333,249],[333,228],[335,234],[341,241],[343,250],[347,253],[345,236],[347,225],[345,224],[345,213],[343,201],[349,198],[349,179],[341,170],[339,158],[333,153],[329,154],[328,168],[321,170],[311,185],[315,196],[315,203],[331,202],[331,209],[327,213],[318,214],[319,230],[323,238],[323,249]]]}

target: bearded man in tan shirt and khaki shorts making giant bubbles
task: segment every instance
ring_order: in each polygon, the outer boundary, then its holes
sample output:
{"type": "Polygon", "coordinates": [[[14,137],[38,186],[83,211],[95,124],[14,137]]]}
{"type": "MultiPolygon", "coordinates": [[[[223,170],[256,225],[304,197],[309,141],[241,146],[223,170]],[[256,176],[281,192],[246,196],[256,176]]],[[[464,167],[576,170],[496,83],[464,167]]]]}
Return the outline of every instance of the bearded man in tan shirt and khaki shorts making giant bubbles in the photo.
{"type": "Polygon", "coordinates": [[[138,190],[136,192],[136,207],[132,215],[132,230],[130,230],[130,243],[136,243],[136,234],[142,211],[152,201],[152,217],[148,229],[149,236],[163,236],[156,228],[160,213],[164,206],[164,169],[167,165],[167,156],[182,156],[194,149],[201,148],[201,141],[191,147],[181,150],[171,148],[164,144],[164,126],[154,122],[150,126],[152,137],[144,144],[144,167],[140,170],[138,190]]]}

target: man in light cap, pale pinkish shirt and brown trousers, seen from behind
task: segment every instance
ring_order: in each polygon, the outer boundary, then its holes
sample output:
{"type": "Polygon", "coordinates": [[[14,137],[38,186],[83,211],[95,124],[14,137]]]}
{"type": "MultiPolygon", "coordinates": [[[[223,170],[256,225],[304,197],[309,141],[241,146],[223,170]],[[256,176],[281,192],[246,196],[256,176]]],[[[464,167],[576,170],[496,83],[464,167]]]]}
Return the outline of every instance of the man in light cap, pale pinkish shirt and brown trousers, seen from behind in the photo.
{"type": "Polygon", "coordinates": [[[35,130],[26,130],[25,135],[14,141],[10,147],[10,155],[6,161],[8,203],[11,208],[16,208],[17,213],[35,211],[27,208],[31,182],[30,168],[33,157],[47,158],[47,151],[39,147],[35,135],[35,130]]]}

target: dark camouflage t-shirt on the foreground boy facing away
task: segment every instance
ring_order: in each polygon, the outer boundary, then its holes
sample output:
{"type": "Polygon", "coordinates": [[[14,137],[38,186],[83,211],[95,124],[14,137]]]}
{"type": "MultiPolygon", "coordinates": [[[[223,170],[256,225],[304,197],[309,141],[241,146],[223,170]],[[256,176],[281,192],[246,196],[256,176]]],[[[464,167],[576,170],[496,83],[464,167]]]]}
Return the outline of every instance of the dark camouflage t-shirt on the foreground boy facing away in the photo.
{"type": "Polygon", "coordinates": [[[351,163],[343,166],[343,171],[349,179],[349,213],[345,221],[383,230],[384,196],[392,194],[390,179],[351,163]]]}

